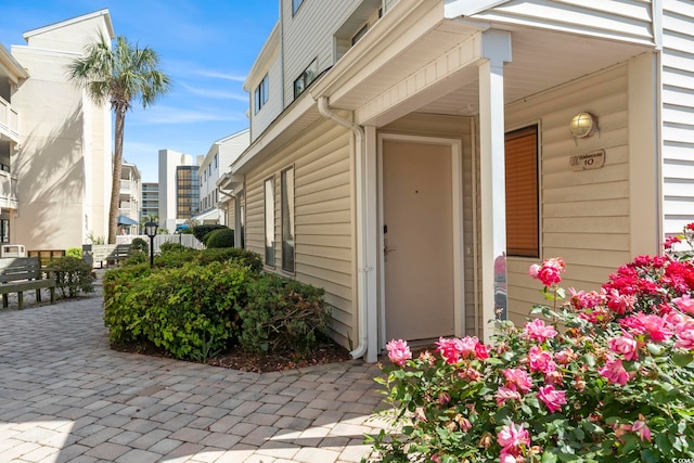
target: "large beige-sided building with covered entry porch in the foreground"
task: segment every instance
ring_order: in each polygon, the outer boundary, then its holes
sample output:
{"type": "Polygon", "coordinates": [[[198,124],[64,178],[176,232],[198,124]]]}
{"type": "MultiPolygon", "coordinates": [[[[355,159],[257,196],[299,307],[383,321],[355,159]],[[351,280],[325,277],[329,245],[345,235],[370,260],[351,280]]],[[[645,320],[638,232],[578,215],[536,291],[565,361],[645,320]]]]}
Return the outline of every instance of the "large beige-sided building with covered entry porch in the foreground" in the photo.
{"type": "Polygon", "coordinates": [[[281,0],[224,189],[334,337],[488,338],[694,221],[691,1],[281,0]]]}

